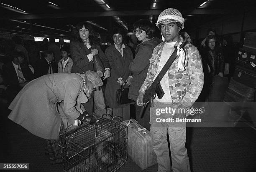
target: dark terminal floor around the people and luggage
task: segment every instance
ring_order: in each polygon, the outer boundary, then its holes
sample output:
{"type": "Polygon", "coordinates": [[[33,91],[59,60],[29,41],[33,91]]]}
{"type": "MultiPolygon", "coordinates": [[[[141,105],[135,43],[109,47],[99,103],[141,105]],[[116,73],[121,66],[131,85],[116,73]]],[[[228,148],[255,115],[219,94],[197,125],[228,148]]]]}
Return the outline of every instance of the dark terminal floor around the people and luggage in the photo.
{"type": "MultiPolygon", "coordinates": [[[[31,172],[61,172],[44,154],[45,141],[0,115],[0,163],[29,163],[31,172]]],[[[256,130],[251,127],[188,127],[187,150],[193,172],[256,172],[256,130]]],[[[16,170],[18,171],[18,170],[16,170]]],[[[119,172],[139,172],[129,158],[119,172]]],[[[154,165],[143,172],[156,172],[154,165]]]]}

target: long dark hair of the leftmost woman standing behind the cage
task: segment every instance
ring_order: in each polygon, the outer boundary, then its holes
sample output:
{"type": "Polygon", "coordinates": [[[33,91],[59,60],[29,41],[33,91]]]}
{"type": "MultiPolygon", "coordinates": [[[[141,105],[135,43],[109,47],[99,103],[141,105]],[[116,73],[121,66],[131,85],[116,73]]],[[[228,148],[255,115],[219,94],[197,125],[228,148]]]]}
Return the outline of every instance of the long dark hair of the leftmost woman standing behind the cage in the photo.
{"type": "Polygon", "coordinates": [[[90,25],[87,22],[80,22],[75,26],[75,28],[72,29],[71,31],[72,41],[82,42],[82,39],[79,34],[79,30],[82,29],[83,26],[89,30],[89,41],[90,41],[90,45],[92,45],[94,43],[95,33],[92,25],[90,25]]]}

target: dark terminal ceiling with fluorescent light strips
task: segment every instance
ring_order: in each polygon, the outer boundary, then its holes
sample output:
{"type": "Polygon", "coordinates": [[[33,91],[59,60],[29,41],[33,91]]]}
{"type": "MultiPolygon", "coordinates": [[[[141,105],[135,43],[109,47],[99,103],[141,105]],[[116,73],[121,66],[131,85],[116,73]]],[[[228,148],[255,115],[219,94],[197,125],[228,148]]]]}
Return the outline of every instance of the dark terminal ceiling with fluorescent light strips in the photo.
{"type": "Polygon", "coordinates": [[[131,31],[136,20],[144,18],[155,23],[159,13],[168,7],[182,12],[185,28],[191,28],[256,7],[256,0],[208,0],[200,6],[205,1],[0,0],[0,31],[34,36],[67,36],[72,26],[81,21],[97,24],[94,28],[100,33],[107,33],[114,26],[121,25],[131,31]]]}

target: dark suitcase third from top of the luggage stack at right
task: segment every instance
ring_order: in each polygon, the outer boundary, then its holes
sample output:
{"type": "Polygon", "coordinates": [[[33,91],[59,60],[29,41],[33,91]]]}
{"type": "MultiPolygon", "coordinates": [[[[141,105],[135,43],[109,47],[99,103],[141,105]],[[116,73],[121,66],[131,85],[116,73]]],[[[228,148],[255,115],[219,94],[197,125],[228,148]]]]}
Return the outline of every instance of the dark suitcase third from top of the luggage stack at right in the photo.
{"type": "Polygon", "coordinates": [[[233,79],[248,87],[256,88],[256,71],[248,67],[236,65],[233,79]]]}

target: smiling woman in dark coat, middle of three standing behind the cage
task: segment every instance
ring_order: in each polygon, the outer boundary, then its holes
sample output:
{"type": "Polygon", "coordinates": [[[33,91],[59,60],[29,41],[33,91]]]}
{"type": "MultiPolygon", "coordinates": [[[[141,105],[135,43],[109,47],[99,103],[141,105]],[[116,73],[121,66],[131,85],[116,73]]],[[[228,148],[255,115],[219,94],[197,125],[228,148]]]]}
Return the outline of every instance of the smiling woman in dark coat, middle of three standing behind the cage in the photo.
{"type": "Polygon", "coordinates": [[[120,29],[114,29],[114,44],[110,45],[110,47],[108,47],[105,51],[111,68],[111,76],[108,78],[105,97],[106,104],[113,108],[113,115],[122,117],[123,120],[129,120],[130,104],[118,105],[116,100],[116,91],[120,89],[120,85],[127,87],[131,84],[132,79],[129,65],[133,59],[133,53],[131,49],[124,44],[123,38],[123,31],[120,29]],[[127,82],[126,85],[125,82],[127,82]]]}

